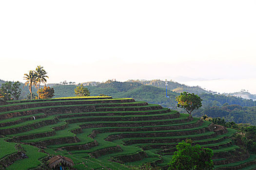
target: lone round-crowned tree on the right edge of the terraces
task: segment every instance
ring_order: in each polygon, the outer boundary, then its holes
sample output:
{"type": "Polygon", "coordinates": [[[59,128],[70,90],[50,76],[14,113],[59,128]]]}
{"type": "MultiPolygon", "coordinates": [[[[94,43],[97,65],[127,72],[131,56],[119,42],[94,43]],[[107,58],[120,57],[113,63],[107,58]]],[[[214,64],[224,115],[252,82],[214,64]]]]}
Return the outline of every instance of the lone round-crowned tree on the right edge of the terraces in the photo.
{"type": "Polygon", "coordinates": [[[184,108],[189,116],[191,117],[191,112],[202,106],[202,99],[194,93],[183,92],[176,97],[177,107],[184,108]]]}

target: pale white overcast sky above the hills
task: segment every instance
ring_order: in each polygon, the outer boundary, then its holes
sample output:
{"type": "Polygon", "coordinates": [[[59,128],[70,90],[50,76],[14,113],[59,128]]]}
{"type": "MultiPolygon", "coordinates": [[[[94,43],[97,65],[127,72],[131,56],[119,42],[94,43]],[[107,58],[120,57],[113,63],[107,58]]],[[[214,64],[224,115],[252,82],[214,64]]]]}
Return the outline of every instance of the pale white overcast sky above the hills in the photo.
{"type": "Polygon", "coordinates": [[[1,0],[0,79],[23,82],[41,65],[49,83],[183,76],[256,94],[255,9],[256,0],[1,0]]]}

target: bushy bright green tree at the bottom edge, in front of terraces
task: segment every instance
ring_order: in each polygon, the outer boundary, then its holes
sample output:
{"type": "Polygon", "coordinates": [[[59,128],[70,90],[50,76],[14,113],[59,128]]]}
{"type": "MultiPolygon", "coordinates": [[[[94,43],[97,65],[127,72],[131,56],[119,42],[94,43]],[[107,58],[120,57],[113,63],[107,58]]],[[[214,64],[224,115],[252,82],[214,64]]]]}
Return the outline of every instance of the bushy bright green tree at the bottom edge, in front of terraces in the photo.
{"type": "Polygon", "coordinates": [[[191,143],[184,140],[178,143],[168,170],[213,170],[213,151],[191,143]]]}

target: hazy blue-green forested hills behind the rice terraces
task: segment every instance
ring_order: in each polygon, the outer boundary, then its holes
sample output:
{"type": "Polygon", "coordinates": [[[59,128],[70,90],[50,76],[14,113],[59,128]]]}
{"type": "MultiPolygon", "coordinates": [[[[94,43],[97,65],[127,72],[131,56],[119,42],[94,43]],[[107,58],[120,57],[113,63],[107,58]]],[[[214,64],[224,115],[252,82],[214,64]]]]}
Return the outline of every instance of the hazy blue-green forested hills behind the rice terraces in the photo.
{"type": "MultiPolygon", "coordinates": [[[[134,98],[137,101],[146,101],[148,103],[160,104],[163,107],[175,109],[181,113],[184,113],[182,109],[177,109],[177,102],[175,101],[175,97],[178,96],[179,93],[168,89],[169,98],[166,98],[164,85],[165,84],[163,81],[158,80],[127,82],[107,81],[98,85],[88,84],[86,87],[89,89],[91,96],[105,94],[114,98],[134,98]],[[157,86],[163,86],[164,88],[157,86]]],[[[174,85],[177,85],[177,83],[169,82],[168,88],[172,88],[174,85]]],[[[55,98],[59,98],[75,96],[74,89],[77,85],[50,84],[49,86],[54,88],[55,98]]],[[[196,93],[196,91],[203,92],[203,89],[200,87],[189,87],[184,85],[183,88],[186,88],[187,91],[191,93],[196,93]]],[[[20,98],[25,98],[28,92],[28,88],[24,87],[24,89],[22,89],[22,95],[20,98]]],[[[35,88],[33,92],[36,94],[35,88]]],[[[256,125],[256,101],[246,100],[234,96],[226,96],[226,94],[219,95],[209,92],[197,94],[201,97],[201,99],[203,99],[203,106],[199,110],[194,111],[194,116],[201,117],[202,115],[206,114],[210,117],[224,117],[227,121],[235,121],[236,123],[251,123],[256,125]],[[235,107],[234,109],[227,109],[227,105],[234,104],[239,105],[239,107],[235,107]]]]}

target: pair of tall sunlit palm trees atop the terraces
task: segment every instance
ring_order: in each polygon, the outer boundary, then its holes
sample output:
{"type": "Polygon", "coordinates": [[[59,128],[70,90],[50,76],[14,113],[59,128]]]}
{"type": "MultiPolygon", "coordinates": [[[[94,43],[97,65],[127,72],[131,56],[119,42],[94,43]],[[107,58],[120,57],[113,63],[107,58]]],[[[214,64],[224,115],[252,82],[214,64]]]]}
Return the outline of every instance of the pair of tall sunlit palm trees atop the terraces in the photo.
{"type": "MultiPolygon", "coordinates": [[[[25,85],[28,85],[29,92],[30,92],[30,100],[32,100],[32,86],[35,85],[38,88],[38,99],[39,99],[39,88],[40,84],[44,83],[46,85],[46,76],[47,72],[43,69],[43,67],[38,66],[36,70],[30,70],[28,74],[24,74],[24,80],[26,80],[25,85]]],[[[24,87],[23,86],[23,87],[24,87]]]]}

